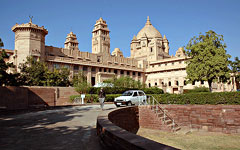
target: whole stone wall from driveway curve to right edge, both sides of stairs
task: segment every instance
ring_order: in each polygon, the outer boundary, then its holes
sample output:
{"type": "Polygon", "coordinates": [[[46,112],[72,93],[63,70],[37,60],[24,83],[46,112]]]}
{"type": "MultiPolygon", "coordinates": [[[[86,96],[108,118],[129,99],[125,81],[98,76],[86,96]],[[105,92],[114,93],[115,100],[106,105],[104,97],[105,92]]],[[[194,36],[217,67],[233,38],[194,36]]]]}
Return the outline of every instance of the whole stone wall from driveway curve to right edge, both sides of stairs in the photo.
{"type": "MultiPolygon", "coordinates": [[[[210,132],[240,133],[239,105],[162,106],[180,127],[210,132]]],[[[169,131],[149,106],[104,111],[97,119],[97,133],[105,149],[175,149],[136,135],[140,127],[169,131]]]]}

